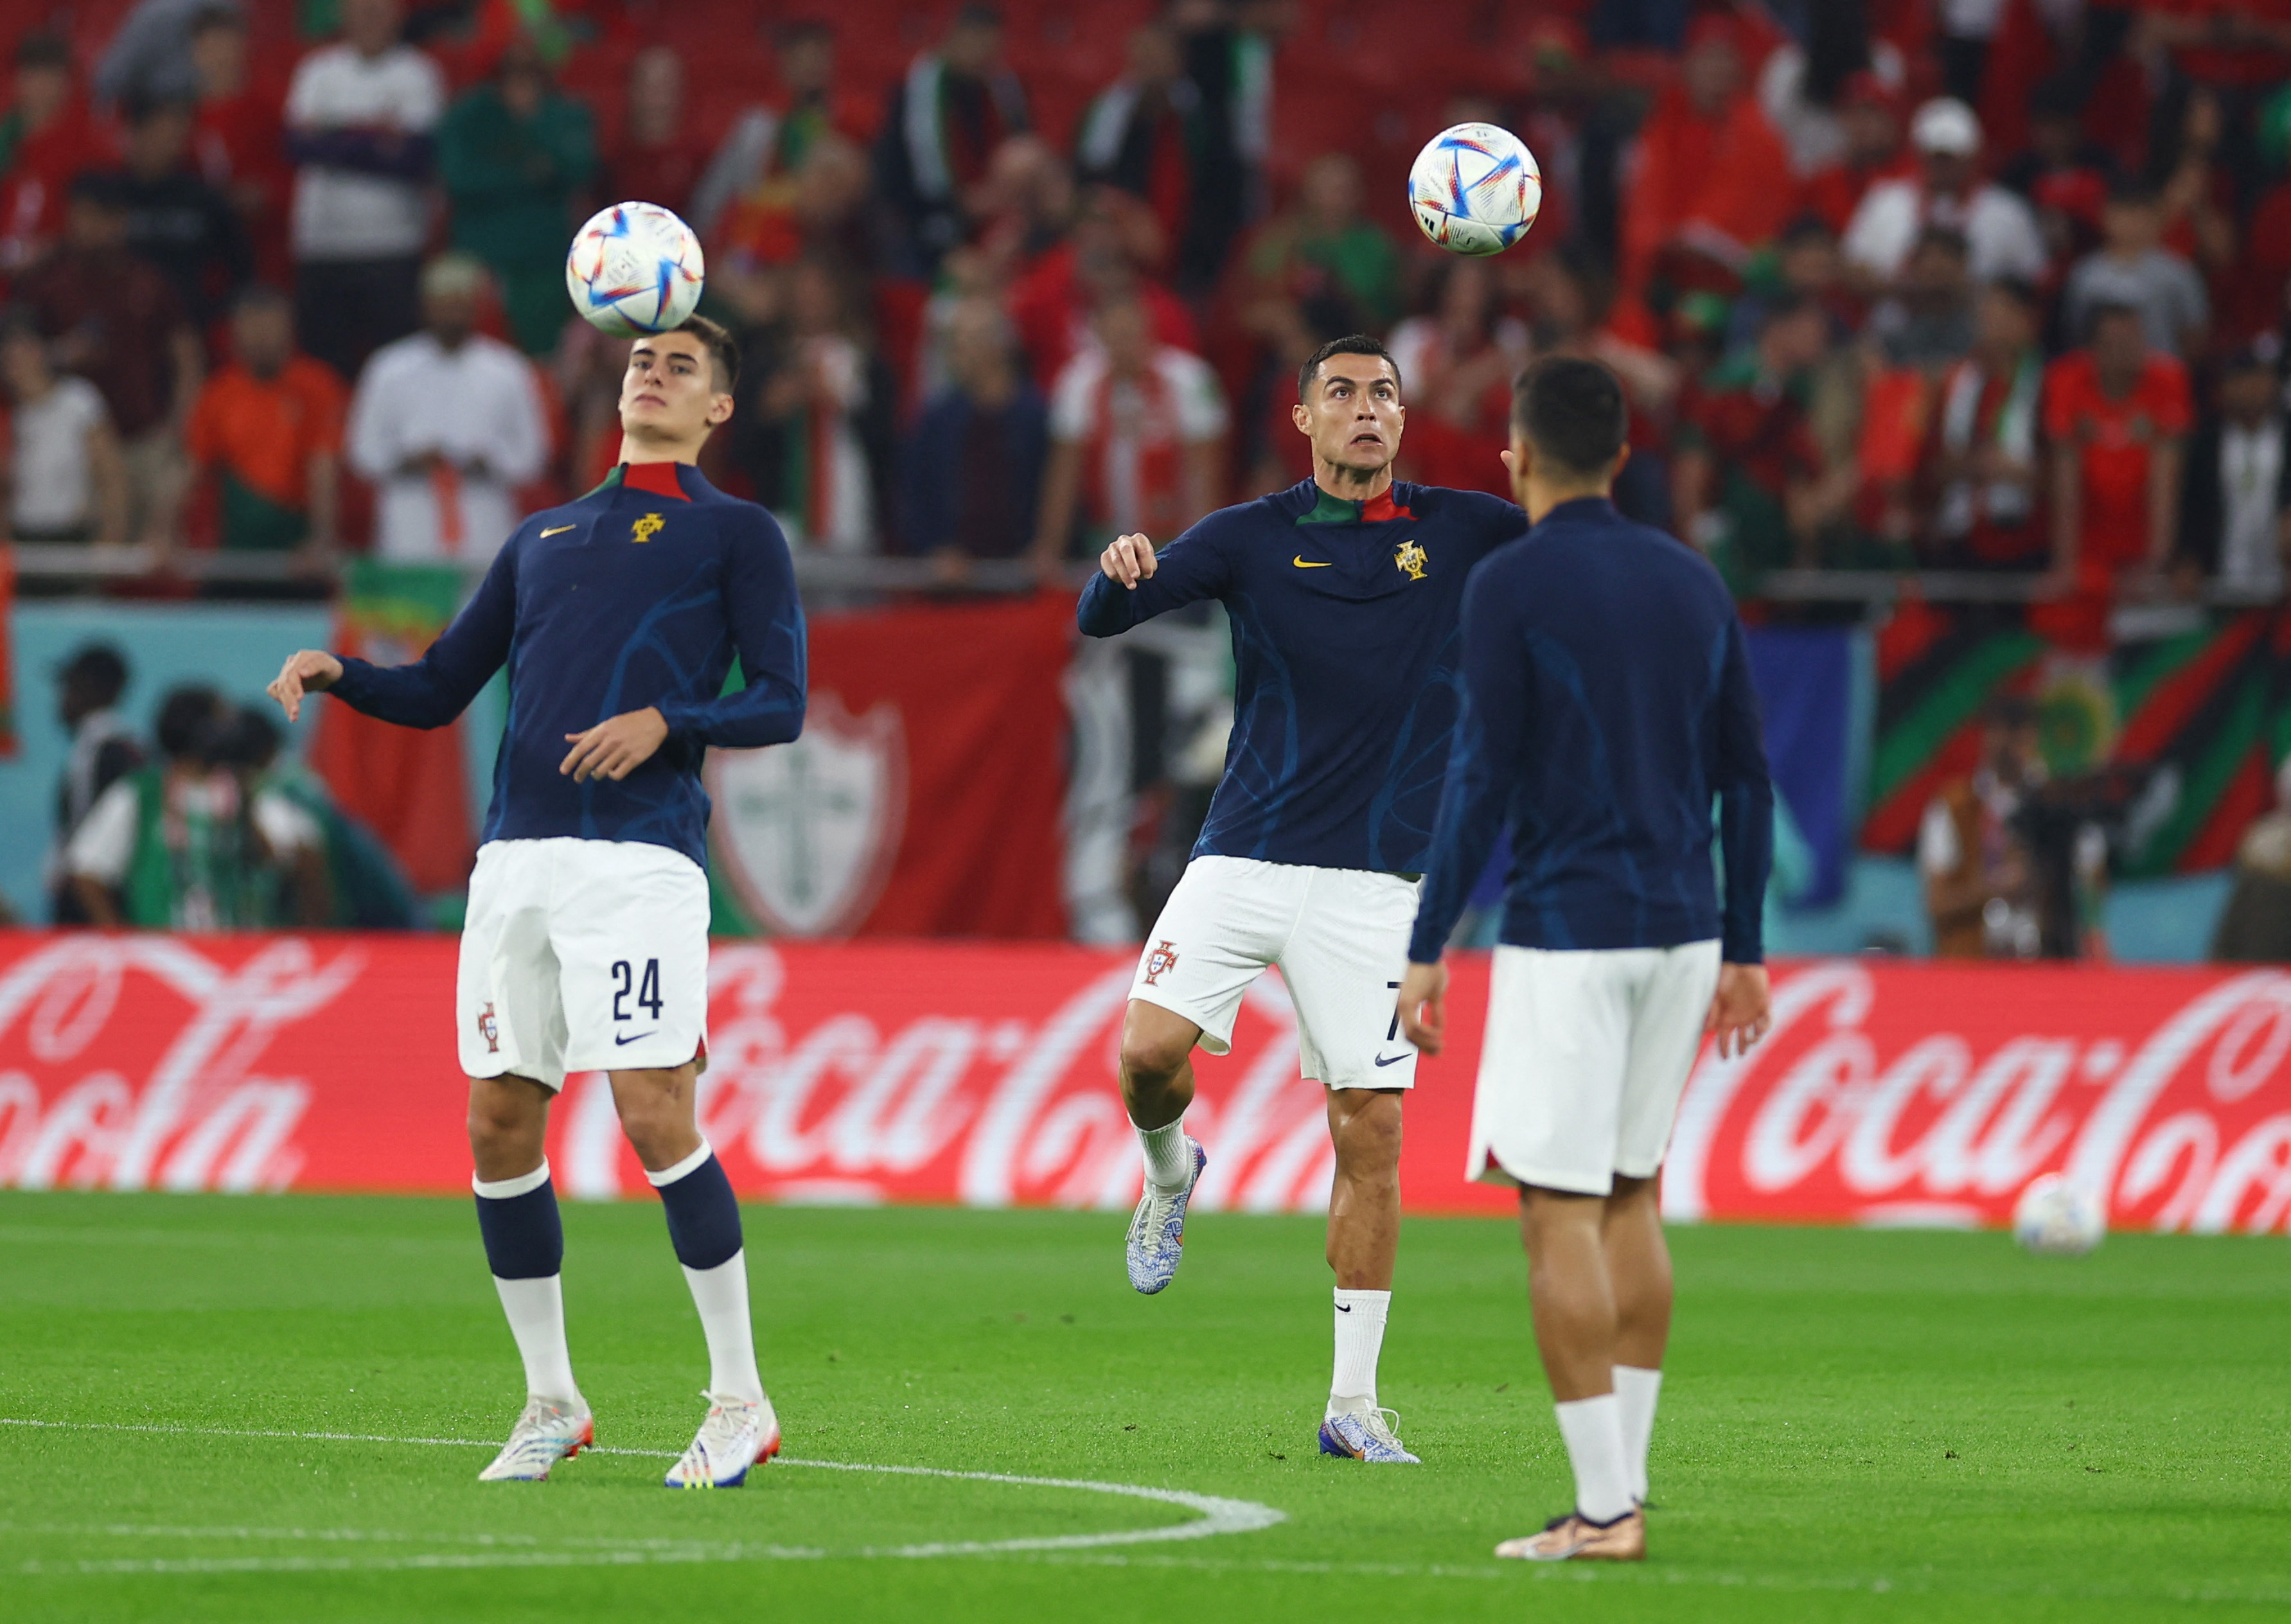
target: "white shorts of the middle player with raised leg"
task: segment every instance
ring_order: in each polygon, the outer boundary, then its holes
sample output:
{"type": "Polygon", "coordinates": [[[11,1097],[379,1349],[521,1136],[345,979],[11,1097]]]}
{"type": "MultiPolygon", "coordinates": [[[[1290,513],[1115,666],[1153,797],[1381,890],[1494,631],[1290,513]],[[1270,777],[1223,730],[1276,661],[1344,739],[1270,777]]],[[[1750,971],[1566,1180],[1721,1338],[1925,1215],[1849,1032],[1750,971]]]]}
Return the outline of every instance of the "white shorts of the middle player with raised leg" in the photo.
{"type": "Polygon", "coordinates": [[[1242,994],[1281,967],[1297,1006],[1299,1072],[1329,1088],[1414,1088],[1400,1035],[1400,971],[1416,928],[1416,880],[1365,868],[1196,857],[1146,937],[1129,996],[1233,1049],[1242,994]]]}

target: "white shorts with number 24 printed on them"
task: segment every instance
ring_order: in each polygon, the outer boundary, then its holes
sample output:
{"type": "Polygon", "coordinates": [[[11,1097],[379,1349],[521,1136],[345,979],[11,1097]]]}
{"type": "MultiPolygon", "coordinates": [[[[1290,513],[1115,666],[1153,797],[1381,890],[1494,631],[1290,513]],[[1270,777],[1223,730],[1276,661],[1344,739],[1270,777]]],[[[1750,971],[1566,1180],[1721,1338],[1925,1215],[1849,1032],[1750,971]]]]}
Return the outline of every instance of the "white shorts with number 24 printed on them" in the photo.
{"type": "Polygon", "coordinates": [[[488,841],[454,992],[460,1070],[564,1088],[708,1044],[708,875],[644,841],[488,841]]]}

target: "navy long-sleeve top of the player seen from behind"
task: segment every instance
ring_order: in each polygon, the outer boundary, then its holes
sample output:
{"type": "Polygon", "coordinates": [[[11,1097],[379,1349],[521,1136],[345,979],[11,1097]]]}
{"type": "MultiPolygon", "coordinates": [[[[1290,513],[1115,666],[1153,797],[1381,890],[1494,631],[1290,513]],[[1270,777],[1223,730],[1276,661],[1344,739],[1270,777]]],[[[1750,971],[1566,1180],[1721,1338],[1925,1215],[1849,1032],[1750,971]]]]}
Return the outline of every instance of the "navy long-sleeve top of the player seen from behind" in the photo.
{"type": "Polygon", "coordinates": [[[1718,573],[1597,497],[1473,570],[1464,722],[1409,957],[1432,964],[1512,831],[1503,941],[1764,957],[1773,788],[1741,621],[1718,573]],[[1725,916],[1711,875],[1711,797],[1725,916]]]}

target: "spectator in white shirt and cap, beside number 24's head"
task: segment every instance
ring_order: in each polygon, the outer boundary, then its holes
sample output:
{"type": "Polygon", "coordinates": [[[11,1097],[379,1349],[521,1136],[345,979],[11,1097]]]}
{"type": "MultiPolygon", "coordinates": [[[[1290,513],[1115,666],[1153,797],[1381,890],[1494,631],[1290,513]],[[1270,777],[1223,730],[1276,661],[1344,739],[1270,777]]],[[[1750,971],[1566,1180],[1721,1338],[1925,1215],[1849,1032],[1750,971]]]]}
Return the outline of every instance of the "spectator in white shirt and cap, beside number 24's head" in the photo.
{"type": "Polygon", "coordinates": [[[373,550],[483,563],[518,527],[518,488],[548,460],[532,362],[477,330],[486,268],[440,254],[422,273],[424,330],[376,350],[351,399],[351,467],[373,481],[373,550]]]}

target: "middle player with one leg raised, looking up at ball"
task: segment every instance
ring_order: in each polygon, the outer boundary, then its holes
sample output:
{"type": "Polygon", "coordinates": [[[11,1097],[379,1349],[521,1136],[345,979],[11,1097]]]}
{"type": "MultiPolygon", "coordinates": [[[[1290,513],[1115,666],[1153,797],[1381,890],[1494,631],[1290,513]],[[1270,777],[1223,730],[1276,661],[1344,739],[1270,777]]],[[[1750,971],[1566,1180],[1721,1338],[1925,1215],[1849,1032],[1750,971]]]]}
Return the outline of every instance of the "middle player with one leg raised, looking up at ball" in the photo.
{"type": "Polygon", "coordinates": [[[1338,339],[1304,364],[1294,421],[1313,442],[1313,479],[1212,513],[1159,554],[1146,536],[1120,536],[1081,593],[1091,637],[1198,598],[1221,600],[1233,623],[1226,774],[1123,1019],[1123,1099],[1146,1150],[1129,1283],[1171,1283],[1207,1166],[1184,1132],[1194,1044],[1226,1054],[1242,994],[1278,964],[1301,1072],[1329,1093],[1336,1143],[1336,1372],[1320,1448],[1414,1461],[1377,1409],[1400,1241],[1400,1095],[1416,1081],[1393,994],[1455,726],[1464,577],[1526,515],[1469,490],[1393,483],[1407,412],[1375,339],[1338,339]]]}

